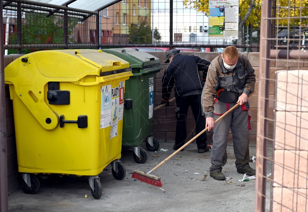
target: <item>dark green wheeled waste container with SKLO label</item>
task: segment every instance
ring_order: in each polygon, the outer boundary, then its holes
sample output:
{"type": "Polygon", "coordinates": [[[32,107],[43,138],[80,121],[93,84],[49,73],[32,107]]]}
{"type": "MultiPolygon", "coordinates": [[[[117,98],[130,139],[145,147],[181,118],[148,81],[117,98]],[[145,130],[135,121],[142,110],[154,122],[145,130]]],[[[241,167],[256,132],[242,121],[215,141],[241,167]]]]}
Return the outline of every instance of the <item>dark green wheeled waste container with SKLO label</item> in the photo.
{"type": "Polygon", "coordinates": [[[133,149],[137,163],[147,160],[147,152],[140,147],[146,141],[148,151],[156,151],[159,142],[153,134],[154,92],[156,73],[162,69],[157,57],[130,48],[103,49],[127,61],[133,76],[125,82],[122,146],[133,149]]]}

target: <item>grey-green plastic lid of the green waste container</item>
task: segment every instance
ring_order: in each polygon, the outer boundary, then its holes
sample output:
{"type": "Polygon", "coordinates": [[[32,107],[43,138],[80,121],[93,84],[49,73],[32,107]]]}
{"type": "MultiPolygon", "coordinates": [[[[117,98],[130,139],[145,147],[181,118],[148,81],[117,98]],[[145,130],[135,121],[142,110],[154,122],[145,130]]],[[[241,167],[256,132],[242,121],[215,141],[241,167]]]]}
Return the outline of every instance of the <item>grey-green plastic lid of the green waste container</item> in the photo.
{"type": "Polygon", "coordinates": [[[102,51],[110,54],[114,54],[126,61],[129,62],[129,65],[132,68],[141,68],[145,69],[147,67],[151,67],[151,65],[159,66],[160,60],[159,58],[144,52],[144,51],[136,51],[131,48],[114,48],[114,49],[103,49],[102,51]]]}

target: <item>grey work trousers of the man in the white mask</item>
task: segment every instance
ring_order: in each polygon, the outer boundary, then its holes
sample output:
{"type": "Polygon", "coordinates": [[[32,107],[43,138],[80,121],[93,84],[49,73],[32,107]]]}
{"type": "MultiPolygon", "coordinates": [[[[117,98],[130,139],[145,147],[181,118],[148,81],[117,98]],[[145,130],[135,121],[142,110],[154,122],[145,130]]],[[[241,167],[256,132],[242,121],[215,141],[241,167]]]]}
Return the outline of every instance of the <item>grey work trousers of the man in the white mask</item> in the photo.
{"type": "MultiPolygon", "coordinates": [[[[214,120],[217,120],[235,104],[236,103],[223,103],[218,100],[214,104],[214,120]]],[[[246,108],[249,109],[249,103],[247,102],[245,104],[246,108]]],[[[245,109],[245,105],[243,108],[245,109]]],[[[213,149],[211,149],[212,166],[210,167],[210,173],[221,171],[222,166],[227,162],[227,141],[230,127],[233,136],[233,150],[236,158],[235,166],[237,169],[249,167],[248,111],[243,110],[240,105],[214,125],[213,149]]]]}

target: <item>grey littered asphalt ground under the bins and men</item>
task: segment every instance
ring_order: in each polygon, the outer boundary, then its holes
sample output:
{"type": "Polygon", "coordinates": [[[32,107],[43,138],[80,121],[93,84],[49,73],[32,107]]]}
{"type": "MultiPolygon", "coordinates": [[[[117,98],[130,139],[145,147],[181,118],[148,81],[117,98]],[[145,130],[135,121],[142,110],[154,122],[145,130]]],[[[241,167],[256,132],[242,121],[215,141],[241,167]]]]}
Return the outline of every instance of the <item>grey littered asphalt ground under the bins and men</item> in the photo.
{"type": "MultiPolygon", "coordinates": [[[[122,151],[122,164],[126,169],[123,180],[116,180],[111,165],[99,174],[102,196],[94,199],[86,176],[52,175],[39,177],[40,189],[36,194],[25,194],[22,189],[9,194],[11,212],[62,212],[62,211],[228,211],[253,212],[255,210],[255,180],[240,182],[244,174],[235,168],[233,146],[228,145],[228,162],[222,172],[226,181],[217,181],[209,176],[210,153],[197,153],[193,142],[184,151],[156,169],[152,174],[161,177],[162,187],[148,185],[132,178],[134,169],[148,172],[174,152],[173,143],[161,143],[167,151],[148,152],[144,164],[133,160],[132,151],[122,151]],[[156,156],[156,157],[155,157],[156,156]],[[158,156],[158,157],[157,157],[158,156]],[[204,179],[204,177],[207,177],[204,179]],[[87,198],[85,198],[87,195],[87,198]]],[[[145,144],[142,144],[145,149],[145,144]]],[[[250,158],[256,155],[256,147],[250,147],[250,158]]],[[[268,150],[271,152],[271,149],[268,150]]],[[[255,168],[251,162],[250,166],[255,168]]],[[[268,173],[271,172],[270,164],[268,173]]],[[[270,181],[267,181],[267,196],[270,196],[270,181]]],[[[269,201],[266,211],[270,211],[269,201]]]]}

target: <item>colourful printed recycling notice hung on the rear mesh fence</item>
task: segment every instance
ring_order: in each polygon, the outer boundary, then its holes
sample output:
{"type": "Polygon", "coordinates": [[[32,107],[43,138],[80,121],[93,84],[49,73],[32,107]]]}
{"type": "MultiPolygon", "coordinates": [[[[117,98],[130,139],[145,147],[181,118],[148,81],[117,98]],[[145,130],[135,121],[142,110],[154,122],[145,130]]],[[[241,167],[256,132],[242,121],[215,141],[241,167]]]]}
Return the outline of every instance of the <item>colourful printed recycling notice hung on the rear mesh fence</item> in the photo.
{"type": "Polygon", "coordinates": [[[238,0],[209,0],[209,39],[238,39],[238,0]]]}

